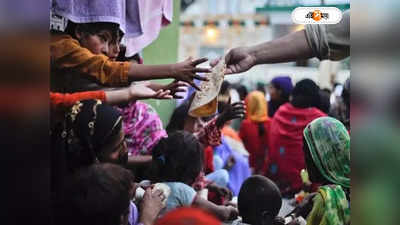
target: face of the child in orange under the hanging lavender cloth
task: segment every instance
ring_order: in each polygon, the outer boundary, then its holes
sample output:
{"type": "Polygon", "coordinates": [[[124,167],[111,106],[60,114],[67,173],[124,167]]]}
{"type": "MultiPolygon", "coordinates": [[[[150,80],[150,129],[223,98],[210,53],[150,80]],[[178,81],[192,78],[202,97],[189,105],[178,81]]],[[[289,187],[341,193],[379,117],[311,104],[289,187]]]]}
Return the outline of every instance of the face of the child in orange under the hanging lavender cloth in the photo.
{"type": "Polygon", "coordinates": [[[109,54],[112,36],[109,31],[100,31],[97,34],[77,34],[82,47],[89,49],[93,54],[109,54]]]}

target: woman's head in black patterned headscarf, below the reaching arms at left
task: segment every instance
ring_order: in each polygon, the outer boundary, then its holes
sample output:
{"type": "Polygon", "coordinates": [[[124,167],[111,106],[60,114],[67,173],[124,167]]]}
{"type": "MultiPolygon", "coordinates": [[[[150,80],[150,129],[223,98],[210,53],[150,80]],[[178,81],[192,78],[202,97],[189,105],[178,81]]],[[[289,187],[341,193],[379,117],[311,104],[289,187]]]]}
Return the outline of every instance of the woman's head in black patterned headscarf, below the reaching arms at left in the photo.
{"type": "Polygon", "coordinates": [[[66,173],[98,162],[124,166],[128,161],[122,117],[100,100],[76,102],[52,131],[51,141],[60,159],[56,164],[64,164],[66,173]]]}

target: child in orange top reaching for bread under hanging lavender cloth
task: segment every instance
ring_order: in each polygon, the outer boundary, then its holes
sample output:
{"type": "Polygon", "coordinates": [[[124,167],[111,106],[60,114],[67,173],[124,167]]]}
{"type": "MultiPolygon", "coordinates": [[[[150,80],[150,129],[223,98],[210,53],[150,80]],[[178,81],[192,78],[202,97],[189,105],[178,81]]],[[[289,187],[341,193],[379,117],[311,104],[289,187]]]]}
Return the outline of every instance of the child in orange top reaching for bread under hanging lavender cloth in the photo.
{"type": "Polygon", "coordinates": [[[118,24],[102,21],[69,21],[65,32],[53,32],[50,44],[52,91],[75,92],[71,91],[74,86],[71,82],[76,82],[80,76],[110,86],[123,86],[136,80],[174,78],[199,89],[193,79],[206,79],[196,73],[210,72],[210,69],[196,67],[207,61],[204,58],[194,61],[189,58],[177,64],[154,66],[111,61],[107,56],[109,46],[119,40],[119,35],[118,24]]]}

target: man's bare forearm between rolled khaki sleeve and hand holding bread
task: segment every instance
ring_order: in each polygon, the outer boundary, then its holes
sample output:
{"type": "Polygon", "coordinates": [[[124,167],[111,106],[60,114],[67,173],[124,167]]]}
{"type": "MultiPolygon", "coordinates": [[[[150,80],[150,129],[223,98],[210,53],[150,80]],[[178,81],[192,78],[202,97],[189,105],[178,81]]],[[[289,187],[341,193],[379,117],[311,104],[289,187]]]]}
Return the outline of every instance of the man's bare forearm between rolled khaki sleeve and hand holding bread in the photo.
{"type": "Polygon", "coordinates": [[[314,57],[305,30],[250,47],[256,64],[284,63],[314,57]]]}

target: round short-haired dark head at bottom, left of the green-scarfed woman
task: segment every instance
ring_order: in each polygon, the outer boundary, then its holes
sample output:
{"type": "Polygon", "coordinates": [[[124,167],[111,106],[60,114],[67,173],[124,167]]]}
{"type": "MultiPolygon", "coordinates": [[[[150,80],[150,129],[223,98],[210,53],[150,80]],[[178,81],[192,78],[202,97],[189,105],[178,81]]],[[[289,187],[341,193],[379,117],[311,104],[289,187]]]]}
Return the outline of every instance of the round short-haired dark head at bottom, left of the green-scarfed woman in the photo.
{"type": "Polygon", "coordinates": [[[243,182],[238,196],[238,209],[243,222],[258,225],[267,216],[272,225],[281,206],[279,188],[270,179],[254,175],[243,182]]]}

